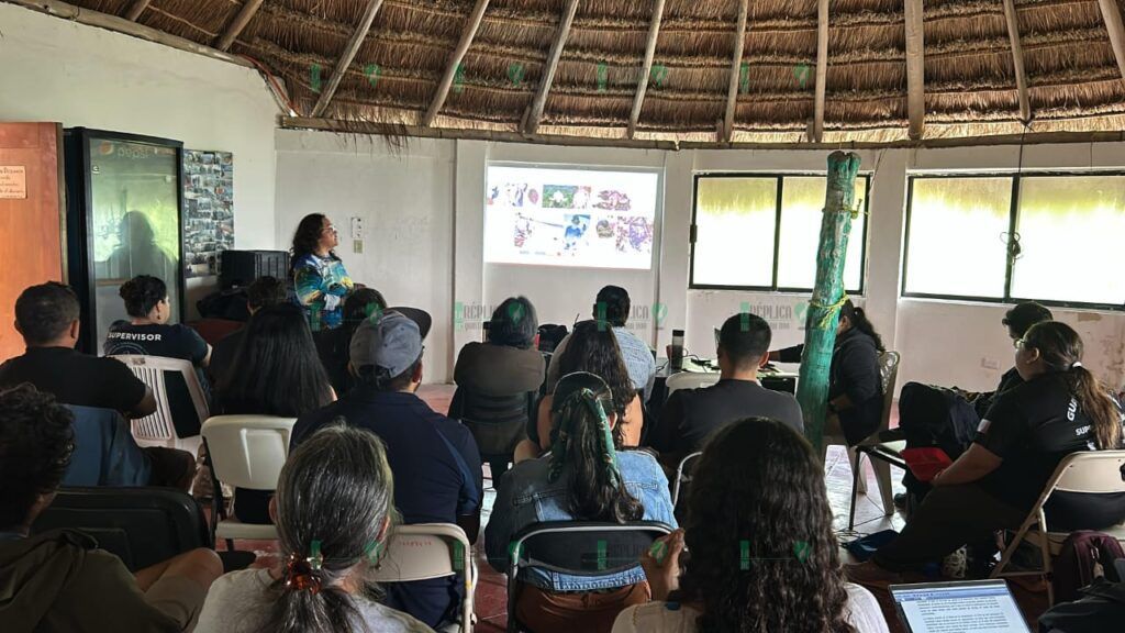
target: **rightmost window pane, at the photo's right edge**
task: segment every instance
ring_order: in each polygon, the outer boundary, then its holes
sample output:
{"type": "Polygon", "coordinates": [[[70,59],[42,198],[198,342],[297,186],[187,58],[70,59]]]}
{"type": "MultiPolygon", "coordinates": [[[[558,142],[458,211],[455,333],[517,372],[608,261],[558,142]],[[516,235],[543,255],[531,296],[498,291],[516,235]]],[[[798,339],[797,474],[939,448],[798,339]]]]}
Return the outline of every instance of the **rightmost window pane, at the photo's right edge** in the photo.
{"type": "Polygon", "coordinates": [[[1125,176],[1019,181],[1011,296],[1125,303],[1125,176]]]}

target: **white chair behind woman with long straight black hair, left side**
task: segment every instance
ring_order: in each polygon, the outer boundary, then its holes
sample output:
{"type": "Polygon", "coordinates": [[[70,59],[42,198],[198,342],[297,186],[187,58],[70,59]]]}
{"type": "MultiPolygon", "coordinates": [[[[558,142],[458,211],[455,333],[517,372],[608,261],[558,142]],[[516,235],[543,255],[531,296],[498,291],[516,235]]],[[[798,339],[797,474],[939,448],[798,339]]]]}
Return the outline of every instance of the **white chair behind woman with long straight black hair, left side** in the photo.
{"type": "MultiPolygon", "coordinates": [[[[276,490],[296,422],[296,418],[269,416],[216,416],[204,422],[202,437],[215,479],[236,488],[276,490]]],[[[212,526],[215,537],[225,538],[228,549],[234,550],[235,538],[278,537],[273,525],[223,517],[222,505],[220,496],[215,494],[212,526]]]]}

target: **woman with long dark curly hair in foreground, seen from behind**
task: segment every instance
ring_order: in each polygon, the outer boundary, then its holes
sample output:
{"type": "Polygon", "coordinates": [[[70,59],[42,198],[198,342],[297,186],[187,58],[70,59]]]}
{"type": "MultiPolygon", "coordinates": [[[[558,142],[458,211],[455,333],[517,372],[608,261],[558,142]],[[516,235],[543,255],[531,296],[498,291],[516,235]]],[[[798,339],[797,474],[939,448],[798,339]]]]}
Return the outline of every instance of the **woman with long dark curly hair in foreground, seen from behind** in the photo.
{"type": "Polygon", "coordinates": [[[626,609],[613,633],[886,633],[875,597],[844,580],[824,470],[804,437],[765,418],[729,424],[694,476],[684,529],[641,555],[656,601],[626,609]]]}

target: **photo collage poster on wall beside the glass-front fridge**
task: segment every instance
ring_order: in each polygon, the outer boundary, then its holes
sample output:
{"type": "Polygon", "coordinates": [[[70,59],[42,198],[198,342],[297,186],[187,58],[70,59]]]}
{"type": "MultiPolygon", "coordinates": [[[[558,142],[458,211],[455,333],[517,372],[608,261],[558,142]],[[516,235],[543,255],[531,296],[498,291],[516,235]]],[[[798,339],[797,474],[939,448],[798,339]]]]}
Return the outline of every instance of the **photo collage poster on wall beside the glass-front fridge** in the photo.
{"type": "Polygon", "coordinates": [[[219,253],[234,248],[234,154],[183,150],[184,276],[218,275],[219,253]]]}

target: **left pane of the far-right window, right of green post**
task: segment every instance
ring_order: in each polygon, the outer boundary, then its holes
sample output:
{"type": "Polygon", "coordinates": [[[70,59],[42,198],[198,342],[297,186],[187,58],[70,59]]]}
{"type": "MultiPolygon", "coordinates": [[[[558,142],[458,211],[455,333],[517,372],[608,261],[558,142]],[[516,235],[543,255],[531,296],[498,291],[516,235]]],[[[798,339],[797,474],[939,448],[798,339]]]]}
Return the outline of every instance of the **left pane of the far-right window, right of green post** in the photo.
{"type": "Polygon", "coordinates": [[[915,178],[908,293],[1004,297],[1011,178],[915,178]]]}

